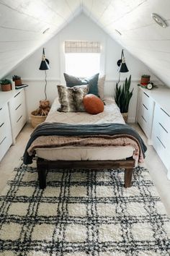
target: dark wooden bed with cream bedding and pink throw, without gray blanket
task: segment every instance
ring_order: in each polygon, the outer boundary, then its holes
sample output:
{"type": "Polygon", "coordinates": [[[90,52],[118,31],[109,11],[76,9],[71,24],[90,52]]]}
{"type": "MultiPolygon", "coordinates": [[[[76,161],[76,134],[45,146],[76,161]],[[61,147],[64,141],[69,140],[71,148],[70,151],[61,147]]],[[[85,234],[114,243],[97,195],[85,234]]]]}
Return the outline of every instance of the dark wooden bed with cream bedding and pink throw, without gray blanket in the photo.
{"type": "MultiPolygon", "coordinates": [[[[59,112],[58,98],[55,98],[44,124],[99,125],[120,124],[125,121],[114,99],[104,100],[104,111],[97,115],[86,112],[59,112]]],[[[27,148],[29,155],[37,155],[37,172],[40,188],[46,187],[48,168],[125,168],[125,187],[131,186],[133,168],[143,162],[140,145],[132,137],[110,137],[88,135],[83,138],[69,136],[40,136],[27,148]],[[63,143],[64,142],[64,143],[63,143]]]]}

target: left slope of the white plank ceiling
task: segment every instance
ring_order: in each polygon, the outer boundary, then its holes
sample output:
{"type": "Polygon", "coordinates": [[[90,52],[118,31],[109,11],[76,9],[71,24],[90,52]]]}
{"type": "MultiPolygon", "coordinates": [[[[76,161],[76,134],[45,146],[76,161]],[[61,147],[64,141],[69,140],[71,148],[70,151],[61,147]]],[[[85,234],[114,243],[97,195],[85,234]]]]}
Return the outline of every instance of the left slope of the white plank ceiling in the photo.
{"type": "Polygon", "coordinates": [[[81,11],[79,0],[0,0],[0,77],[81,11]]]}

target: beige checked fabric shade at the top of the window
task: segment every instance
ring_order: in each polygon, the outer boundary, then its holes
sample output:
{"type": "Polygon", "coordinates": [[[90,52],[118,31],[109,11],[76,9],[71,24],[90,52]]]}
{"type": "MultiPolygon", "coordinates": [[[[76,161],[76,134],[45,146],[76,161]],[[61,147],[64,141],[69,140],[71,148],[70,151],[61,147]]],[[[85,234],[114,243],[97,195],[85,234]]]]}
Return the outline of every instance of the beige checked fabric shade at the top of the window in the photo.
{"type": "Polygon", "coordinates": [[[65,41],[65,53],[100,53],[100,43],[93,41],[65,41]]]}

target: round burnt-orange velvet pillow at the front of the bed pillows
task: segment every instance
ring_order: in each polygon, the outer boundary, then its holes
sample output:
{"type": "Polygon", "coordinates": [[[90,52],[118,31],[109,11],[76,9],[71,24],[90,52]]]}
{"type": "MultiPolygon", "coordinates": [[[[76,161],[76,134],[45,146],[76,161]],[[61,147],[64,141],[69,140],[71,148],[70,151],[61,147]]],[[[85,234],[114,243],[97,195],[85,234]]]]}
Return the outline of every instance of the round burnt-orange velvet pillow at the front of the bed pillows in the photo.
{"type": "Polygon", "coordinates": [[[87,94],[83,103],[86,112],[89,114],[99,114],[104,111],[104,103],[94,94],[87,94]]]}

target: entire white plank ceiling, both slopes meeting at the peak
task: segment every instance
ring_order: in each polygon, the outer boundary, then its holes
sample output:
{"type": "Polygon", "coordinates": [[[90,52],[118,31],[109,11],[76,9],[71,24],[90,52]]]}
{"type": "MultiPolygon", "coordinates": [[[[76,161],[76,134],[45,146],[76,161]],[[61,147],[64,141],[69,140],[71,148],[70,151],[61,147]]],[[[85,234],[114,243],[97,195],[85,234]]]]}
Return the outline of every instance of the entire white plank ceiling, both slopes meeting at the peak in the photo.
{"type": "Polygon", "coordinates": [[[169,0],[0,0],[0,77],[85,12],[170,86],[169,9],[169,0]],[[168,27],[159,27],[152,13],[168,27]]]}

